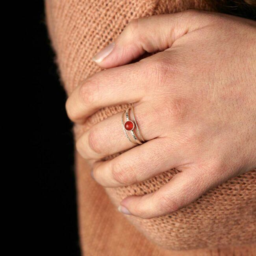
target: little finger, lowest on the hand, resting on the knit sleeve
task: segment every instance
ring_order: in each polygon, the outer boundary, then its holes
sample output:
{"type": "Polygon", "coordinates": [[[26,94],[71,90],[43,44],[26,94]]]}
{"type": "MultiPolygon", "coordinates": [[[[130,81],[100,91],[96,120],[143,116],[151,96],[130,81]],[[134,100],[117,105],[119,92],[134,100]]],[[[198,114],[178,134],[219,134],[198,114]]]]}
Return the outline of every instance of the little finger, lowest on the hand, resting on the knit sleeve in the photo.
{"type": "Polygon", "coordinates": [[[184,208],[227,179],[213,169],[186,169],[154,193],[124,198],[119,210],[145,219],[166,215],[184,208]]]}

